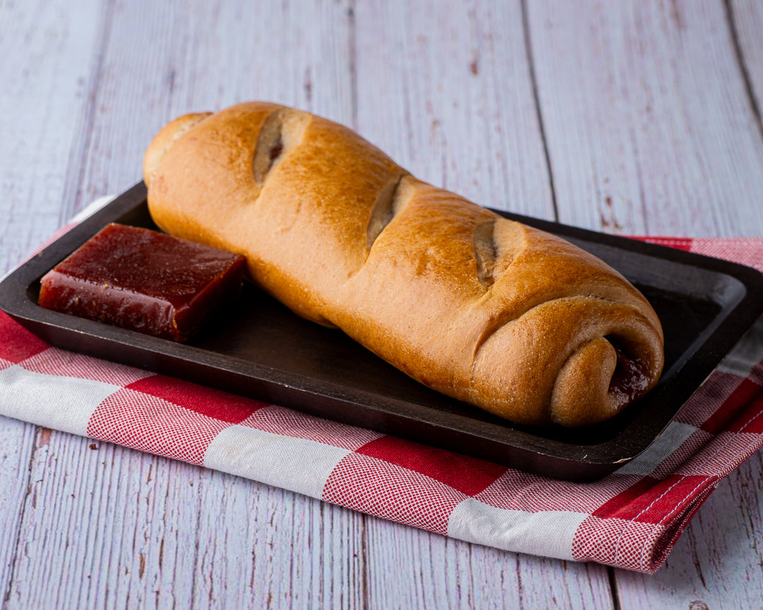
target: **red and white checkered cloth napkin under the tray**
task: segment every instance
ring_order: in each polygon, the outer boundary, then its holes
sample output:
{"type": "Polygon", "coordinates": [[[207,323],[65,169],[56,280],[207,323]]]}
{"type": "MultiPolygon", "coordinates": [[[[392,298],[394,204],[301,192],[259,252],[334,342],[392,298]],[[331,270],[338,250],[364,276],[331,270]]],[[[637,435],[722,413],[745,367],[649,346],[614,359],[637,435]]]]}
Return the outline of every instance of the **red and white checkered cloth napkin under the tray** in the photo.
{"type": "MultiPolygon", "coordinates": [[[[650,239],[763,270],[763,239],[650,239]]],[[[654,573],[763,445],[763,320],[645,453],[567,483],[54,348],[0,313],[0,415],[441,535],[654,573]]]]}

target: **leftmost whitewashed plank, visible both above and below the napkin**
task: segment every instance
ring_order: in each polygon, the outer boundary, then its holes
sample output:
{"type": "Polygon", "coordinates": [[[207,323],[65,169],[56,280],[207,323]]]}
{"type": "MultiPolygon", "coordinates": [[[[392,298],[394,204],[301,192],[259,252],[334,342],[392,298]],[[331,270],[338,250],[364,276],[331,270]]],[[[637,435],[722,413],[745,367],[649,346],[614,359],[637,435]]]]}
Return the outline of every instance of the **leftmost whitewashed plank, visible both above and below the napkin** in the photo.
{"type": "MultiPolygon", "coordinates": [[[[59,224],[60,197],[97,46],[96,2],[2,3],[0,23],[0,276],[59,224]],[[11,27],[12,24],[12,27],[11,27]]],[[[0,417],[0,605],[10,595],[24,507],[36,502],[31,464],[50,431],[0,417]]]]}

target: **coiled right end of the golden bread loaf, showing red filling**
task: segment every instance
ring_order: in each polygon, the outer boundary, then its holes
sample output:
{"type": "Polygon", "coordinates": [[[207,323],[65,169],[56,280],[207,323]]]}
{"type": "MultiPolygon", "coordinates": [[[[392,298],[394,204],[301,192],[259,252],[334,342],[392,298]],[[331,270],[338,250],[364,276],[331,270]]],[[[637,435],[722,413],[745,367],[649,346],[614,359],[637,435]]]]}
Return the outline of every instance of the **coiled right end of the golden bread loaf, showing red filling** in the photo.
{"type": "Polygon", "coordinates": [[[657,383],[664,356],[655,321],[596,297],[542,303],[480,348],[475,388],[481,395],[501,388],[480,406],[526,425],[604,422],[657,383]]]}

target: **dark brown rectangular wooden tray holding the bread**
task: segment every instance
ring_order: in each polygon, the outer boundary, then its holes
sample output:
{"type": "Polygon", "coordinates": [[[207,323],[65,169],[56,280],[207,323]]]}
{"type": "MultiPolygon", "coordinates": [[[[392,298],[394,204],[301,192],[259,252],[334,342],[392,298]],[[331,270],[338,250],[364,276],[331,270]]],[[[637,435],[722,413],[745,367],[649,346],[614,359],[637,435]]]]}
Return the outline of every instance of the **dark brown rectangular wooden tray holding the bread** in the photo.
{"type": "Polygon", "coordinates": [[[298,318],[251,284],[185,345],[38,307],[42,275],[105,224],[156,228],[142,182],[8,275],[0,284],[0,308],[61,348],[549,477],[594,480],[651,445],[755,323],[763,313],[763,275],[716,258],[500,213],[604,259],[639,287],[662,319],[662,379],[609,422],[573,430],[513,425],[423,387],[342,332],[298,318]]]}

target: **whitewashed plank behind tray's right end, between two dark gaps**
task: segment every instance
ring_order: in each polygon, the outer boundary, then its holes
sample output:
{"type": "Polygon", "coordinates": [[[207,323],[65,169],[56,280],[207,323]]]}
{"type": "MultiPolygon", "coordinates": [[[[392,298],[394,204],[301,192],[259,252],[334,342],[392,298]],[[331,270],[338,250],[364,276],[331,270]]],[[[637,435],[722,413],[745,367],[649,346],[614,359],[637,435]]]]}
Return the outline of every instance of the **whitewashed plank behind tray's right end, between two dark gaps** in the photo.
{"type": "Polygon", "coordinates": [[[723,2],[528,9],[563,222],[610,233],[761,233],[763,142],[723,2]]]}

